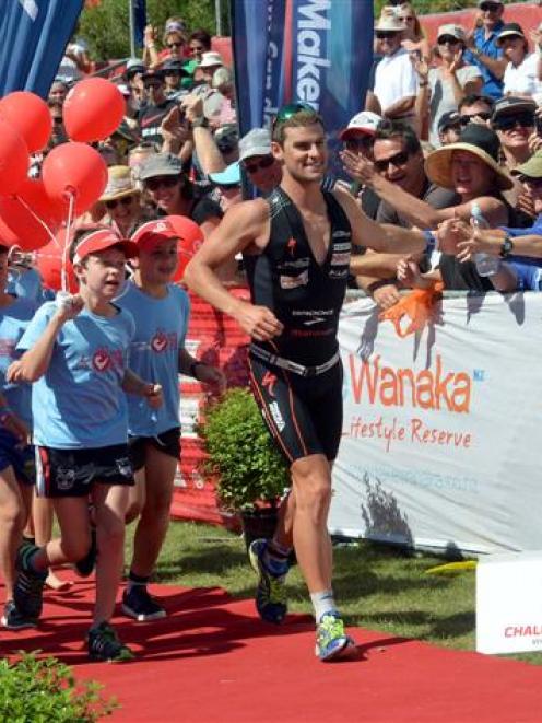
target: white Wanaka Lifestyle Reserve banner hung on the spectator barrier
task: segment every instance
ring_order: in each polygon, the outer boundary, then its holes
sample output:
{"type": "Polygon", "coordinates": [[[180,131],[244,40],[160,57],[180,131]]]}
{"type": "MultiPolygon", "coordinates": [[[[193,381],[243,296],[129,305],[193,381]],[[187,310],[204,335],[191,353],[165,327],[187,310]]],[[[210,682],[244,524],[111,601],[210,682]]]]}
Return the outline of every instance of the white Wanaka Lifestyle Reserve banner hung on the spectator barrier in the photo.
{"type": "Polygon", "coordinates": [[[542,294],[446,299],[400,338],[343,307],[330,530],[420,547],[542,549],[542,294]]]}

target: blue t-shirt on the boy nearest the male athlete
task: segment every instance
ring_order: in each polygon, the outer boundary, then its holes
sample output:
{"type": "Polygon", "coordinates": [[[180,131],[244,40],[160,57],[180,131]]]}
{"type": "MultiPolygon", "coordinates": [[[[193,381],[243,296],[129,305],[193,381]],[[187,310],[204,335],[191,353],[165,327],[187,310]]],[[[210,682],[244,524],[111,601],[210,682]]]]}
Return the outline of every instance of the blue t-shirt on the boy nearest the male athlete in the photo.
{"type": "Polygon", "coordinates": [[[167,296],[154,299],[133,282],[115,302],[131,312],[136,336],[130,346],[130,369],[145,382],[162,384],[164,404],[151,409],[146,401],[128,394],[129,433],[133,436],[155,436],[179,425],[179,350],[190,315],[188,294],[179,287],[167,284],[167,296]]]}

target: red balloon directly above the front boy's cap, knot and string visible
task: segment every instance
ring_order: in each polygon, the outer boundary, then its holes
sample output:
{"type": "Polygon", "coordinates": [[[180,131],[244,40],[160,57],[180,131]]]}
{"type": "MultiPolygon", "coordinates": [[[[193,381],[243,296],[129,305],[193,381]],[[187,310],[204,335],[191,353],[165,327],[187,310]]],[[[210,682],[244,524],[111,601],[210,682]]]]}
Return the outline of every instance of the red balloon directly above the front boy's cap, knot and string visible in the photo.
{"type": "Polygon", "coordinates": [[[44,161],[42,178],[47,195],[66,213],[70,197],[75,198],[75,214],[93,206],[107,185],[107,165],[99,153],[85,143],[61,143],[44,161]]]}

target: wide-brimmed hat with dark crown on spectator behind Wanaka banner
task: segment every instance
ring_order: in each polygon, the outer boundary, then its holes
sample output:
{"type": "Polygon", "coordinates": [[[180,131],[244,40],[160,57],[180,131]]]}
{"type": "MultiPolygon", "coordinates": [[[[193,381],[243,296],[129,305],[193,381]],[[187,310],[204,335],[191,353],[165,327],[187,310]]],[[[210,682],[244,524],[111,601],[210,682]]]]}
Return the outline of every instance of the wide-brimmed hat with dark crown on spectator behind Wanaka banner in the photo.
{"type": "Polygon", "coordinates": [[[429,153],[425,161],[425,173],[428,179],[453,190],[451,176],[451,161],[455,151],[467,151],[482,160],[495,172],[497,187],[508,190],[514,187],[514,182],[508,174],[498,165],[498,137],[491,128],[479,124],[469,124],[462,131],[457,143],[443,145],[429,153]]]}

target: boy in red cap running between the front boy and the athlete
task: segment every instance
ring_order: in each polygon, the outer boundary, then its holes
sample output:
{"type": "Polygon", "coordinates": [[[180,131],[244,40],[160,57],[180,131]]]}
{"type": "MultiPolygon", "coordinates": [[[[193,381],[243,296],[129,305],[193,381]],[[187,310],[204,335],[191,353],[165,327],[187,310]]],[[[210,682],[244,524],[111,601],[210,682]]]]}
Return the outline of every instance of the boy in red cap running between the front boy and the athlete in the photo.
{"type": "Polygon", "coordinates": [[[187,293],[170,283],[177,269],[179,237],[166,220],[149,221],[132,235],[139,254],[133,279],[116,303],[136,320],[130,346],[130,366],[142,377],[160,384],[164,405],[151,410],[128,394],[130,453],[136,487],[130,490],[127,522],[139,516],[123,611],[136,620],[166,615],[148,592],[169,524],[175,473],[180,456],[178,374],[199,382],[224,385],[223,373],[198,362],[185,349],[190,304],[187,293]]]}

